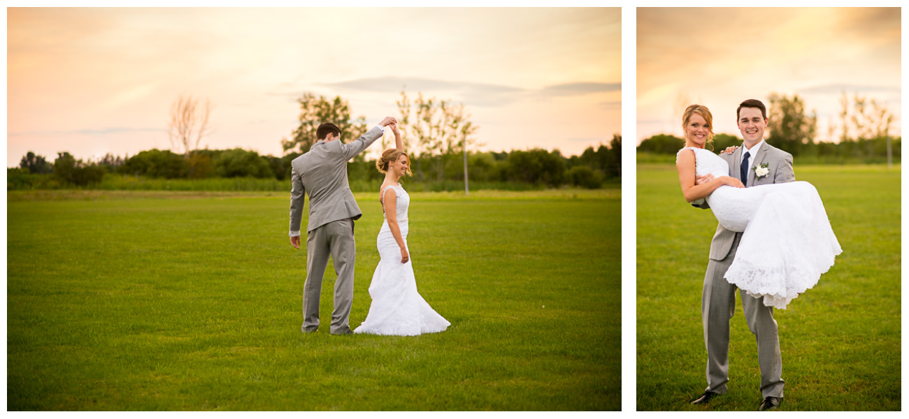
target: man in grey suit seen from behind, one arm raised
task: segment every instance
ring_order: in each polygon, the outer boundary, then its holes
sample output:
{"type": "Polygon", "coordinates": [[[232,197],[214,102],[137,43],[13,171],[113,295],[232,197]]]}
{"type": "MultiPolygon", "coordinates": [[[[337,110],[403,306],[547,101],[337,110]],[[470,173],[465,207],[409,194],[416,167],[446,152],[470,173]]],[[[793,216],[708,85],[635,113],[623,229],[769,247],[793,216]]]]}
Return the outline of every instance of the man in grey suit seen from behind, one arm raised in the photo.
{"type": "Polygon", "coordinates": [[[395,123],[387,117],[362,137],[345,144],[341,130],[331,122],[315,130],[318,140],[300,157],[291,161],[290,244],[300,248],[304,192],[309,195],[309,222],[306,225],[306,282],[303,287],[303,332],[319,327],[319,296],[328,257],[335,260],[335,309],[333,335],[353,332],[347,317],[354,302],[354,220],[362,212],[347,183],[347,161],[382,137],[385,127],[395,123]]]}

